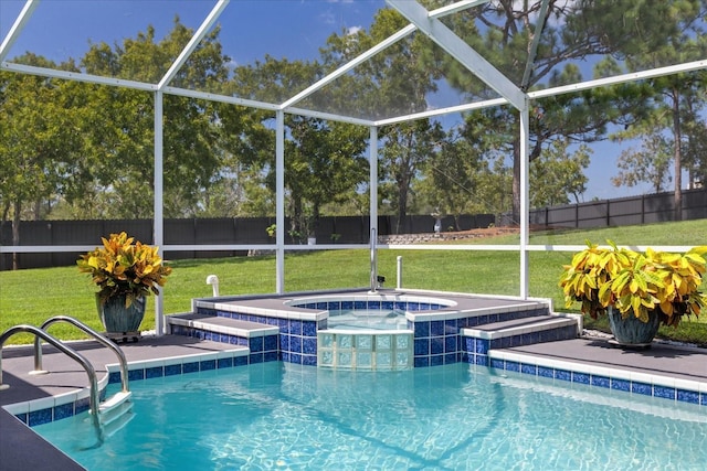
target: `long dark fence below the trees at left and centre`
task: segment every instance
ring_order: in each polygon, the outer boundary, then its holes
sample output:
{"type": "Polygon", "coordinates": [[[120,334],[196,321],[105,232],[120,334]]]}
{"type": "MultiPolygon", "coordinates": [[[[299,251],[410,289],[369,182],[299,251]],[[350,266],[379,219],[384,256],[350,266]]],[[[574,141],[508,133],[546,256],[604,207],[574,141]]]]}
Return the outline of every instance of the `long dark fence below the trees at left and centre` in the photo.
{"type": "MultiPolygon", "coordinates": [[[[492,214],[465,215],[458,220],[460,229],[466,231],[488,227],[494,224],[492,214]]],[[[207,245],[207,244],[274,244],[266,228],[274,224],[271,217],[238,217],[238,218],[199,218],[199,220],[165,220],[166,245],[207,245]]],[[[435,220],[432,216],[413,215],[405,217],[400,224],[401,234],[432,233],[435,220]]],[[[289,221],[285,221],[285,227],[289,221]]],[[[393,216],[378,218],[379,235],[395,234],[398,220],[393,216]]],[[[452,217],[442,220],[443,229],[455,227],[452,217]]],[[[125,231],[130,236],[145,243],[152,244],[151,220],[124,221],[23,221],[20,224],[20,245],[101,245],[101,237],[112,233],[125,231]]],[[[368,216],[323,217],[315,231],[318,244],[368,244],[370,238],[370,223],[368,216]]],[[[288,244],[296,244],[292,237],[285,236],[288,244]]],[[[12,231],[9,223],[0,227],[0,244],[12,245],[12,231]]],[[[247,255],[247,250],[188,250],[165,251],[170,259],[211,258],[247,255]]],[[[40,268],[70,266],[76,263],[78,254],[72,253],[41,253],[17,254],[20,268],[40,268]]],[[[0,270],[12,268],[12,254],[0,255],[0,270]]]]}

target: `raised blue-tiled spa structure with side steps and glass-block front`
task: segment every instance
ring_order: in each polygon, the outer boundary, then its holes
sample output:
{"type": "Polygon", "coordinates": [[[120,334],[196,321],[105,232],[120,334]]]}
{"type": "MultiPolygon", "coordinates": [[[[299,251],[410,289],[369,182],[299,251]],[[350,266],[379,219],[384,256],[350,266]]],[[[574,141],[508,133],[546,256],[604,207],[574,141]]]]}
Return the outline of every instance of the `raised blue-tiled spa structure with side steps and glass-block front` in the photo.
{"type": "Polygon", "coordinates": [[[349,370],[408,370],[468,362],[489,365],[493,347],[577,336],[576,323],[494,339],[476,331],[486,324],[549,315],[547,301],[498,299],[454,293],[397,290],[289,293],[286,296],[208,298],[193,312],[168,317],[168,332],[249,346],[249,363],[282,360],[349,370]],[[329,310],[395,309],[408,329],[327,330],[329,310]],[[219,325],[209,319],[221,320],[219,325]],[[232,325],[225,322],[231,320],[232,325]]]}

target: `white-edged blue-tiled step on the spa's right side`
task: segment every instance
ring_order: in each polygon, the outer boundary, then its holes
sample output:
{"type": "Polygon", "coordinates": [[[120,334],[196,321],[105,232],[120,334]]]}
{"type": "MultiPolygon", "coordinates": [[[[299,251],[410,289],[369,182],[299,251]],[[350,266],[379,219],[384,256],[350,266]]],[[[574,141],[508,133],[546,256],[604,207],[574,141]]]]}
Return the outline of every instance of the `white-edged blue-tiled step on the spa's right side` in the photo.
{"type": "Polygon", "coordinates": [[[580,332],[581,317],[545,314],[462,329],[462,343],[469,363],[488,365],[490,350],[576,339],[580,332]]]}

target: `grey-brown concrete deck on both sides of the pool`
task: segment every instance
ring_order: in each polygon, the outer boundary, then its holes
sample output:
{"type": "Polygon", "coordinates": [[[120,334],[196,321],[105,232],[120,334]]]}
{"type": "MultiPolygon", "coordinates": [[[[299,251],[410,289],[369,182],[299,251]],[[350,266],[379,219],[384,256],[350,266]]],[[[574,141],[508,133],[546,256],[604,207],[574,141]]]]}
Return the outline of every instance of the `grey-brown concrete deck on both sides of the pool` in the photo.
{"type": "MultiPolygon", "coordinates": [[[[115,364],[115,354],[95,342],[71,344],[96,368],[101,381],[108,372],[106,364],[115,364]]],[[[220,354],[238,346],[202,341],[181,335],[143,336],[137,343],[120,343],[128,363],[156,358],[183,357],[196,354],[220,354]]],[[[622,350],[606,339],[579,338],[510,349],[503,354],[528,358],[569,362],[582,366],[601,366],[613,371],[646,374],[663,378],[697,382],[707,392],[707,349],[654,342],[647,350],[622,350]]],[[[33,399],[51,398],[57,394],[87,387],[86,372],[64,354],[44,346],[43,364],[49,375],[29,375],[33,368],[31,346],[7,346],[2,355],[2,381],[10,387],[0,390],[0,406],[33,399]]],[[[434,367],[434,366],[433,366],[434,367]]],[[[630,394],[630,393],[626,393],[630,394]]],[[[667,399],[666,399],[667,400],[667,399]]],[[[707,409],[706,409],[707,414],[707,409]]],[[[49,470],[83,469],[33,433],[10,413],[0,408],[0,469],[49,470]]]]}

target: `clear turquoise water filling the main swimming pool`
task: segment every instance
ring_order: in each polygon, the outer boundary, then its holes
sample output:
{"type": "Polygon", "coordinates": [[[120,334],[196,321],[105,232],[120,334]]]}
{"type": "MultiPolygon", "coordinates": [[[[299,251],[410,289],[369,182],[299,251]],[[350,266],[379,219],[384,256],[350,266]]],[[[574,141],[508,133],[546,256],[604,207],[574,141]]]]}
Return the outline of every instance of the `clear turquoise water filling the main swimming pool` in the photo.
{"type": "Polygon", "coordinates": [[[281,362],[130,384],[101,447],[87,415],[34,427],[88,470],[703,470],[705,408],[457,363],[281,362]]]}

